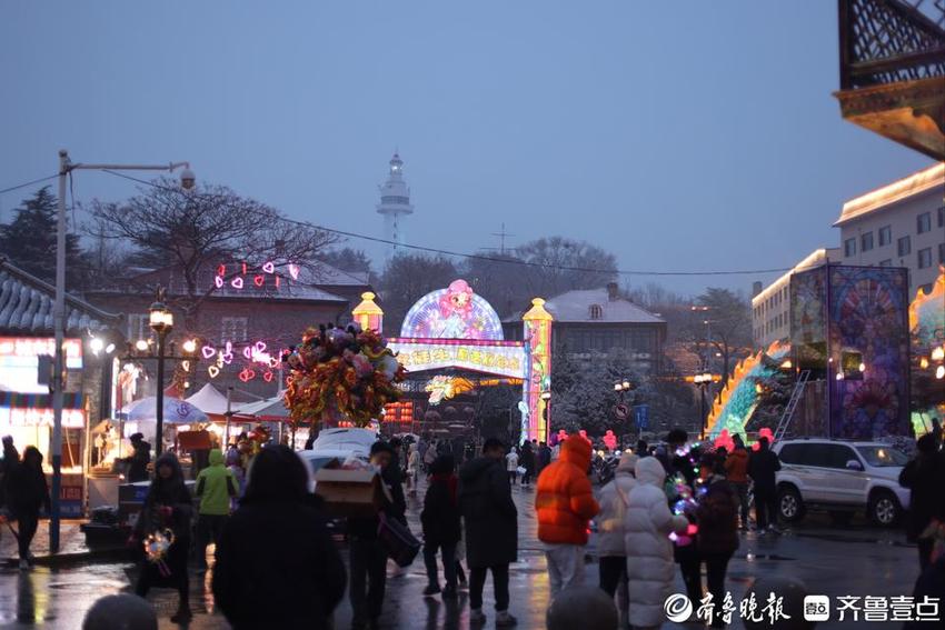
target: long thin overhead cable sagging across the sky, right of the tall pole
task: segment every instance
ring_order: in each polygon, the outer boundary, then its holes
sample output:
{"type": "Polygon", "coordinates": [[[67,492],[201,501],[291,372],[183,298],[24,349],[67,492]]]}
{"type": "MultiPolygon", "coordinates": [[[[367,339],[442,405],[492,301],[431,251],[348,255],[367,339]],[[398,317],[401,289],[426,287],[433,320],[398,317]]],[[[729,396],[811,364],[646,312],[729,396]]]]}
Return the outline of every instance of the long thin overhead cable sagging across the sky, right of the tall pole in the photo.
{"type": "MultiPolygon", "coordinates": [[[[150,187],[153,187],[153,188],[159,188],[159,189],[162,189],[162,190],[170,190],[170,191],[173,191],[173,192],[179,192],[177,189],[171,189],[169,187],[161,186],[159,183],[155,183],[153,181],[148,181],[148,180],[143,180],[143,179],[140,179],[140,178],[131,177],[129,174],[125,174],[125,173],[121,173],[121,172],[118,172],[118,171],[112,171],[112,170],[108,170],[108,169],[103,169],[103,171],[109,173],[109,174],[113,174],[116,177],[120,177],[120,178],[125,178],[125,179],[128,179],[128,180],[131,180],[131,181],[136,181],[138,183],[143,183],[146,186],[150,186],[150,187]]],[[[212,197],[211,194],[206,194],[206,193],[195,193],[195,194],[199,196],[199,197],[212,197]]],[[[361,233],[358,233],[358,232],[350,232],[350,231],[347,231],[347,230],[328,228],[326,226],[318,226],[318,224],[311,223],[309,221],[299,221],[297,219],[290,219],[288,217],[284,217],[282,220],[286,221],[287,223],[292,223],[292,224],[296,224],[296,226],[301,226],[301,227],[305,227],[305,228],[311,228],[311,229],[316,229],[316,230],[322,230],[322,231],[326,231],[326,232],[330,232],[332,234],[338,234],[338,236],[347,237],[347,238],[350,238],[350,239],[360,239],[360,240],[376,242],[376,243],[396,246],[398,248],[411,249],[411,250],[415,250],[415,251],[422,251],[422,252],[426,252],[426,253],[437,253],[437,254],[440,254],[440,256],[465,258],[465,259],[468,259],[468,260],[481,260],[481,261],[485,261],[485,262],[517,264],[517,266],[520,266],[520,267],[556,269],[556,270],[559,270],[559,271],[577,271],[577,272],[581,272],[581,273],[598,273],[598,274],[616,273],[618,276],[662,276],[662,277],[666,277],[666,276],[686,276],[686,277],[698,277],[698,276],[758,276],[758,274],[763,274],[763,273],[784,273],[786,271],[792,271],[794,269],[793,267],[779,267],[779,268],[773,268],[773,269],[739,269],[739,270],[724,270],[724,271],[654,271],[654,270],[626,270],[626,269],[616,269],[616,270],[614,270],[614,269],[595,269],[595,268],[588,268],[588,267],[570,267],[570,266],[566,266],[566,264],[546,264],[546,263],[543,263],[543,262],[533,262],[533,261],[519,260],[519,259],[515,259],[515,258],[496,258],[496,257],[493,257],[493,256],[486,256],[486,254],[481,254],[481,253],[468,253],[468,252],[451,251],[451,250],[448,250],[448,249],[440,249],[440,248],[434,248],[434,247],[426,247],[426,246],[418,246],[418,244],[406,244],[406,243],[400,243],[400,242],[388,240],[388,239],[381,239],[381,238],[378,238],[378,237],[370,237],[370,236],[367,236],[367,234],[361,234],[361,233]]]]}

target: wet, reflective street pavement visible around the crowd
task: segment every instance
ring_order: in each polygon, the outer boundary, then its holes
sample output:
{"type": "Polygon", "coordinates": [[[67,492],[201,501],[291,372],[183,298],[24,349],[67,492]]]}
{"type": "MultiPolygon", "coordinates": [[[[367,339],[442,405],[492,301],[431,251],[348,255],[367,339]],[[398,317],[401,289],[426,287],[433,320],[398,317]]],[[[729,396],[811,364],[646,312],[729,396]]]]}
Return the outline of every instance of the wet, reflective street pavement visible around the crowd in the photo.
{"type": "MultiPolygon", "coordinates": [[[[540,543],[536,538],[533,491],[515,489],[519,507],[519,562],[510,572],[510,611],[519,619],[519,628],[544,628],[548,606],[548,580],[540,543]]],[[[419,508],[410,500],[411,528],[419,531],[419,508]]],[[[4,544],[3,550],[7,549],[4,544]]],[[[589,546],[593,554],[593,543],[589,546]]],[[[899,530],[878,530],[866,524],[834,528],[825,517],[812,514],[803,526],[783,536],[743,534],[742,547],[729,564],[726,587],[735,601],[759,577],[797,578],[814,594],[827,596],[908,596],[918,572],[917,551],[905,544],[899,530]]],[[[84,611],[105,594],[130,589],[133,566],[116,562],[77,564],[61,568],[40,567],[20,572],[9,564],[0,566],[0,626],[9,628],[76,629],[81,627],[84,611]]],[[[597,583],[597,563],[586,566],[588,583],[597,583]]],[[[191,607],[195,619],[190,628],[227,628],[213,613],[210,594],[211,572],[191,574],[191,607]]],[[[384,628],[466,629],[468,599],[460,591],[457,602],[424,598],[426,586],[422,562],[418,560],[402,574],[391,576],[385,602],[384,628]]],[[[676,578],[676,592],[684,592],[676,578]]],[[[491,582],[486,584],[486,628],[494,627],[491,582]]],[[[177,606],[176,593],[155,590],[149,597],[158,610],[162,629],[177,628],[170,616],[177,606]]],[[[336,611],[336,628],[350,623],[347,598],[336,611]]],[[[736,616],[737,617],[737,616],[736,616]]],[[[664,628],[699,628],[700,624],[666,623],[664,628]]],[[[901,623],[823,622],[817,628],[901,628],[901,623]]],[[[734,622],[730,628],[743,628],[734,622]]]]}

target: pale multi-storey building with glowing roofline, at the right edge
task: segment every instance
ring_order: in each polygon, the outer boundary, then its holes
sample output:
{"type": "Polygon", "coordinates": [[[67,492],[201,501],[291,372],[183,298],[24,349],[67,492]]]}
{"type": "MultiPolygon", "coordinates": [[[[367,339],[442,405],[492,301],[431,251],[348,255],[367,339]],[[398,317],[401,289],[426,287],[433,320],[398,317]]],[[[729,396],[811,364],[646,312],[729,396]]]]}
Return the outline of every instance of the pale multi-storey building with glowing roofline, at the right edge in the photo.
{"type": "Polygon", "coordinates": [[[945,163],[937,163],[844,203],[844,264],[905,267],[909,299],[931,290],[945,264],[945,163]]]}

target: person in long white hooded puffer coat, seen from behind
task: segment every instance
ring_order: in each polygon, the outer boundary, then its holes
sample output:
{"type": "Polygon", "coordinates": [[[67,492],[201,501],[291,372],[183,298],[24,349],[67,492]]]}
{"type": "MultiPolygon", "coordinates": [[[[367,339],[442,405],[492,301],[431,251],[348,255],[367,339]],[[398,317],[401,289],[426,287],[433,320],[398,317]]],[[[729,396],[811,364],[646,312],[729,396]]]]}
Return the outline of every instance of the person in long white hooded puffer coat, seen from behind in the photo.
{"type": "Polygon", "coordinates": [[[659,628],[666,620],[663,604],[669,596],[676,567],[669,534],[685,531],[686,517],[674,516],[663,484],[666,471],[659,460],[637,461],[637,483],[629,494],[624,519],[624,544],[630,596],[630,626],[659,628]]]}

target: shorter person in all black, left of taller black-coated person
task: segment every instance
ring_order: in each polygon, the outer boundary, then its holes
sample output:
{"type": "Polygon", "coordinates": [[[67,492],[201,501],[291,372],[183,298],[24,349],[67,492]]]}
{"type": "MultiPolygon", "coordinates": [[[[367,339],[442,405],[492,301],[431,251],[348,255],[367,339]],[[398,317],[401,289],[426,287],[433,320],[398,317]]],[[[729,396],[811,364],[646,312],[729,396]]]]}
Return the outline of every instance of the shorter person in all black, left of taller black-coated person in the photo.
{"type": "Polygon", "coordinates": [[[458,479],[452,456],[439,456],[430,464],[430,484],[424,497],[420,522],[424,526],[424,562],[429,583],[425,596],[440,592],[437,573],[437,551],[442,552],[442,573],[446,589],[442,597],[456,598],[456,544],[462,538],[459,523],[458,479]]]}

